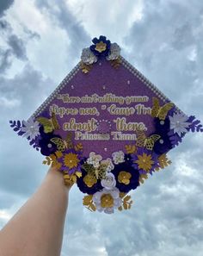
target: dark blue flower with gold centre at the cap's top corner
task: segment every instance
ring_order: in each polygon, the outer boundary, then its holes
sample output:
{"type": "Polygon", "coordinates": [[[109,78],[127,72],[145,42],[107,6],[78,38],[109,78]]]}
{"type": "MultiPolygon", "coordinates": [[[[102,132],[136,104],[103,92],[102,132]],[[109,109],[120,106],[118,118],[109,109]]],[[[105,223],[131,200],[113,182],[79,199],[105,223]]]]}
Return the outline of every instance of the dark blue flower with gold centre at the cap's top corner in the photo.
{"type": "Polygon", "coordinates": [[[95,56],[107,56],[110,51],[111,42],[107,40],[106,36],[101,35],[99,39],[96,37],[92,40],[94,45],[91,45],[89,49],[95,56]]]}

